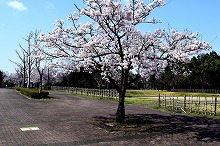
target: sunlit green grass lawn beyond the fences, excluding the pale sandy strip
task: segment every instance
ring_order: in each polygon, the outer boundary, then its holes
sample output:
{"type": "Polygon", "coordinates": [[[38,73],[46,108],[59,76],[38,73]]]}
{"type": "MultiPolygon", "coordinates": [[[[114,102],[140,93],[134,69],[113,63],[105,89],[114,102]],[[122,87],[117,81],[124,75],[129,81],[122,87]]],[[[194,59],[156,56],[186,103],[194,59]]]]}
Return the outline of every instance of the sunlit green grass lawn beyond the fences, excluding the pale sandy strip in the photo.
{"type": "MultiPolygon", "coordinates": [[[[53,92],[57,92],[57,91],[53,91],[53,92]]],[[[60,91],[59,91],[60,92],[60,91]]],[[[64,92],[67,93],[67,92],[64,92]]],[[[118,98],[102,98],[101,96],[92,96],[92,95],[87,95],[87,94],[74,94],[74,93],[67,93],[67,94],[73,94],[76,96],[80,96],[80,97],[87,97],[87,98],[96,98],[99,100],[106,100],[106,101],[111,101],[111,102],[118,102],[118,98]]],[[[203,97],[213,97],[213,96],[219,96],[220,94],[211,94],[211,93],[193,93],[193,92],[170,92],[170,91],[158,91],[158,90],[127,90],[127,94],[125,97],[125,104],[136,104],[136,105],[140,105],[142,107],[147,107],[147,108],[153,108],[153,109],[162,109],[162,110],[170,110],[168,108],[164,108],[158,105],[158,94],[161,94],[161,98],[164,94],[166,94],[167,97],[180,97],[179,100],[183,100],[184,96],[188,97],[201,97],[201,99],[203,97]]],[[[194,99],[195,99],[194,98],[194,99]]],[[[207,98],[207,99],[208,99],[207,98]]],[[[213,98],[209,98],[209,99],[213,99],[213,98]]],[[[168,98],[169,100],[169,98],[168,98]]],[[[218,100],[219,101],[219,100],[218,100]]],[[[180,104],[180,106],[183,105],[182,102],[178,102],[180,104]]],[[[189,106],[187,106],[189,107],[189,106]]],[[[220,105],[217,105],[217,112],[218,112],[218,116],[219,116],[219,109],[220,105]]],[[[185,110],[187,113],[189,114],[193,114],[193,115],[200,115],[202,113],[204,113],[204,109],[207,109],[207,114],[205,114],[205,116],[209,116],[211,118],[216,118],[215,116],[210,115],[210,111],[213,112],[213,105],[212,107],[210,105],[207,105],[207,107],[204,107],[204,105],[202,104],[199,108],[197,108],[197,106],[195,106],[195,104],[192,104],[192,106],[190,106],[191,110],[193,109],[193,111],[190,113],[189,111],[185,110]],[[193,113],[195,112],[195,109],[199,109],[199,113],[193,113]],[[211,110],[212,109],[212,110],[211,110]]],[[[187,108],[188,109],[188,108],[187,108]]],[[[189,110],[189,109],[188,109],[189,110]]],[[[185,112],[185,113],[186,113],[185,112]]],[[[198,112],[198,110],[197,110],[198,112]]]]}

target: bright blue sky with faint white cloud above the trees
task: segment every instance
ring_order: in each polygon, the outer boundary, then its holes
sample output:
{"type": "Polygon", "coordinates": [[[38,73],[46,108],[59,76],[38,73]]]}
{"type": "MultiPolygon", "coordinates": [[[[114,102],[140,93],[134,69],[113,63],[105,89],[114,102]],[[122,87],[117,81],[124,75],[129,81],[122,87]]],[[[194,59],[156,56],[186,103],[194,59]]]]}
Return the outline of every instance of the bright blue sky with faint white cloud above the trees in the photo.
{"type": "MultiPolygon", "coordinates": [[[[220,53],[220,0],[165,2],[166,6],[156,9],[149,17],[155,17],[163,23],[142,25],[141,31],[168,28],[168,24],[179,30],[189,29],[202,34],[202,40],[210,42],[213,50],[220,53]]],[[[76,10],[74,3],[83,6],[82,0],[0,0],[0,70],[15,72],[16,66],[9,59],[19,61],[15,50],[20,49],[19,43],[26,46],[23,38],[36,29],[50,32],[57,19],[66,21],[66,16],[76,10]]]]}

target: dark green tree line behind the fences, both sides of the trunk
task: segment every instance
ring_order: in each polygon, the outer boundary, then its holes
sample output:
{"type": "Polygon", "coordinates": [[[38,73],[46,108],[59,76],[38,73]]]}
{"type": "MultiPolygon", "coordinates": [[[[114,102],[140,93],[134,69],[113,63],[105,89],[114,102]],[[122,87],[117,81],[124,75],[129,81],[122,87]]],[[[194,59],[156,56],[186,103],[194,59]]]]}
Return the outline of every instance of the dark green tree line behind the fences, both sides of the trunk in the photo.
{"type": "MultiPolygon", "coordinates": [[[[134,76],[130,72],[129,77],[134,76]]],[[[100,72],[72,72],[63,76],[57,85],[84,88],[113,88],[101,78],[100,72]]],[[[220,55],[210,53],[194,56],[187,63],[167,66],[148,79],[139,78],[129,89],[220,89],[220,55]]]]}

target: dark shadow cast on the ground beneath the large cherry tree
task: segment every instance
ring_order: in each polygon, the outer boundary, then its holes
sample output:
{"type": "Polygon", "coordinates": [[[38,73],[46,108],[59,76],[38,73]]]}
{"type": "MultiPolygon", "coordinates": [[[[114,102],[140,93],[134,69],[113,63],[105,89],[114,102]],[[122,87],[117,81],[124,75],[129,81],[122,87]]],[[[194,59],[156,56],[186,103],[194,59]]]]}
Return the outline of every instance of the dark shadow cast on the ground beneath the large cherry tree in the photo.
{"type": "Polygon", "coordinates": [[[160,133],[179,134],[193,133],[189,139],[220,142],[220,120],[185,115],[129,114],[125,122],[115,122],[114,115],[94,117],[94,125],[110,132],[136,134],[160,133]]]}

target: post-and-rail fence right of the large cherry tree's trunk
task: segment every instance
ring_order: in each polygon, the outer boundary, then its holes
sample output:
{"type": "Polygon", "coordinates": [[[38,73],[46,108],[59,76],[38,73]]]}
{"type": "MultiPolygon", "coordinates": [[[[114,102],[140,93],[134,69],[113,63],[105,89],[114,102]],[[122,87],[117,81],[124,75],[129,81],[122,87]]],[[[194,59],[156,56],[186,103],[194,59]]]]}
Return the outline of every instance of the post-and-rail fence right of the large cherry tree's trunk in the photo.
{"type": "Polygon", "coordinates": [[[159,107],[175,112],[196,113],[217,116],[220,113],[218,97],[167,97],[158,96],[159,107]]]}

